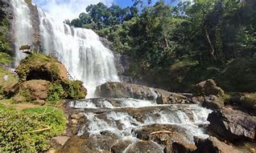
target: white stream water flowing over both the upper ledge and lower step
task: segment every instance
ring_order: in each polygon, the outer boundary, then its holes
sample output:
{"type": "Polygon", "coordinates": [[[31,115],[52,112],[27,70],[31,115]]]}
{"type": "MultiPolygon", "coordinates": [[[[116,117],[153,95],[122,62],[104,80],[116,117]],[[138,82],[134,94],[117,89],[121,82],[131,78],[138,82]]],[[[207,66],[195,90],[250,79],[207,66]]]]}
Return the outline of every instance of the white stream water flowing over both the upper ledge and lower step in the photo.
{"type": "Polygon", "coordinates": [[[138,99],[86,99],[72,101],[68,107],[85,115],[86,124],[81,126],[78,135],[90,138],[108,133],[118,141],[129,140],[133,142],[130,145],[135,145],[139,139],[134,131],[155,125],[184,129],[187,143],[193,143],[194,136],[208,138],[204,127],[209,124],[207,117],[211,111],[197,104],[159,105],[155,101],[138,99]]]}

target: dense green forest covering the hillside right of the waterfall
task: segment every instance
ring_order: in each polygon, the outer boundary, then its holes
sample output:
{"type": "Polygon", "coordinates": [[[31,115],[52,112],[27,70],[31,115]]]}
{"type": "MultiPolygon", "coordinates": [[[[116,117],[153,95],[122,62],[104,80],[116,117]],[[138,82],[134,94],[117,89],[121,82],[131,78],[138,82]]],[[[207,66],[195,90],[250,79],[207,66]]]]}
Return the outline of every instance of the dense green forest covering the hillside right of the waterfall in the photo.
{"type": "Polygon", "coordinates": [[[228,91],[256,91],[254,64],[247,62],[254,63],[256,54],[256,1],[148,2],[134,0],[124,9],[98,3],[76,22],[130,57],[126,74],[155,87],[184,91],[202,79],[216,79],[228,91]]]}

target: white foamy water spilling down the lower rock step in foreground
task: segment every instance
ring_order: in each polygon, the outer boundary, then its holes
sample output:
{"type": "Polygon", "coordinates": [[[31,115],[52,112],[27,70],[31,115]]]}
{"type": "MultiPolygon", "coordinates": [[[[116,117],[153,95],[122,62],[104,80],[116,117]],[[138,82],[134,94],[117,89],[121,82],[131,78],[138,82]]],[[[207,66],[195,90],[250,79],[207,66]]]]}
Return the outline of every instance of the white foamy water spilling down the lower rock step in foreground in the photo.
{"type": "MultiPolygon", "coordinates": [[[[131,99],[129,100],[131,101],[131,99]]],[[[133,104],[130,104],[129,107],[132,106],[133,104]]],[[[101,110],[101,108],[103,107],[97,107],[99,110],[101,110]]],[[[138,111],[144,109],[144,107],[137,107],[137,105],[134,108],[138,111]]],[[[208,135],[204,134],[204,130],[199,126],[209,124],[207,116],[211,112],[210,110],[196,104],[180,106],[165,105],[165,107],[155,105],[155,108],[150,108],[154,111],[142,111],[140,113],[142,117],[139,118],[138,116],[136,117],[130,114],[129,109],[126,111],[126,107],[113,107],[113,105],[110,110],[102,110],[104,115],[96,115],[92,112],[85,111],[86,121],[89,123],[89,126],[82,128],[81,131],[87,131],[90,135],[101,135],[101,132],[108,131],[117,135],[120,139],[124,137],[133,137],[136,139],[132,133],[133,129],[157,123],[184,127],[191,143],[193,142],[193,136],[198,136],[202,139],[208,137],[208,135]]],[[[82,135],[82,132],[80,135],[82,135]]]]}

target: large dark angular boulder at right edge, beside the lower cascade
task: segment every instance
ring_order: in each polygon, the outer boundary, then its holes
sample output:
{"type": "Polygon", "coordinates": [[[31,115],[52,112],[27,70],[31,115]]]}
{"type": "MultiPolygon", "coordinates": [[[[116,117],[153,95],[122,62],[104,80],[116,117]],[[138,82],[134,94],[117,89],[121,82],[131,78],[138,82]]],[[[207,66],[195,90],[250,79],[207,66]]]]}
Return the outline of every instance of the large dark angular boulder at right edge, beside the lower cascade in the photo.
{"type": "Polygon", "coordinates": [[[213,111],[208,120],[210,130],[223,139],[229,141],[255,139],[256,117],[242,111],[222,107],[221,111],[213,111]]]}

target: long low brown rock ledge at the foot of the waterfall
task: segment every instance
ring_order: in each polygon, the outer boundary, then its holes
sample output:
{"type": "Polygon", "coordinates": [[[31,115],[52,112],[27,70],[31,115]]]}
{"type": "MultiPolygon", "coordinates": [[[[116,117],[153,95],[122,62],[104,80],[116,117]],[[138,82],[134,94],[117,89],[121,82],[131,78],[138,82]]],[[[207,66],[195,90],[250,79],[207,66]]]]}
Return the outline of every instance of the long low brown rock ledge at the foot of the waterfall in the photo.
{"type": "Polygon", "coordinates": [[[134,98],[156,100],[157,103],[192,103],[181,94],[131,83],[104,83],[97,87],[96,95],[104,98],[134,98]]]}

